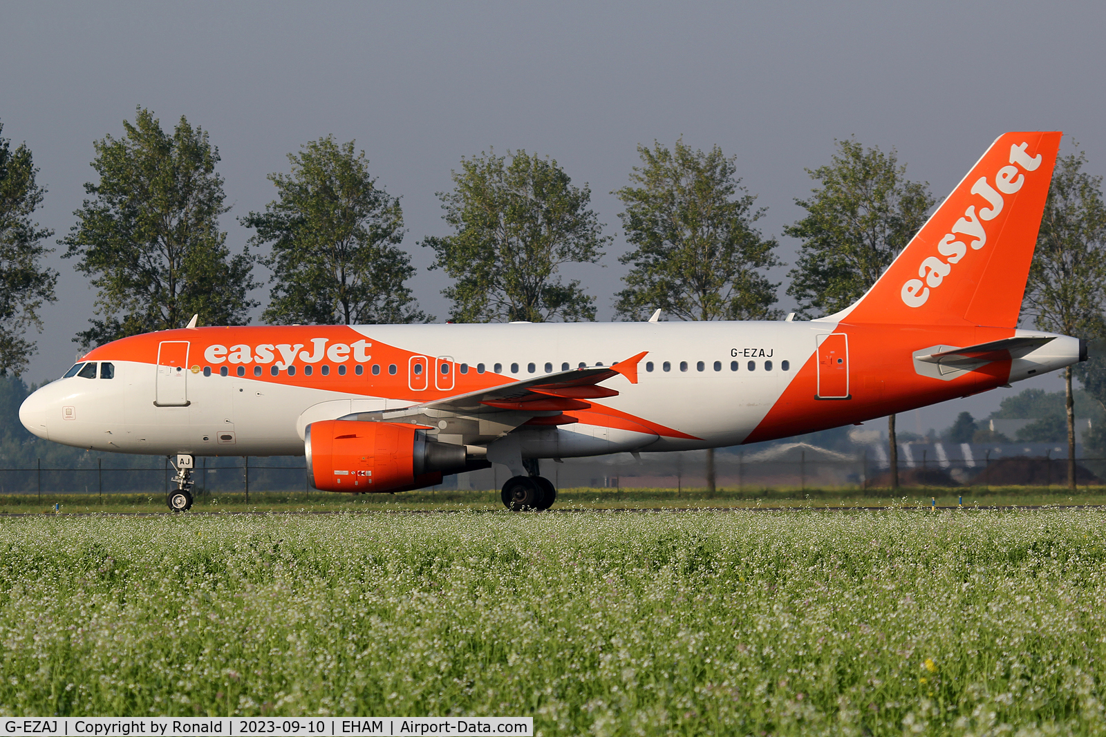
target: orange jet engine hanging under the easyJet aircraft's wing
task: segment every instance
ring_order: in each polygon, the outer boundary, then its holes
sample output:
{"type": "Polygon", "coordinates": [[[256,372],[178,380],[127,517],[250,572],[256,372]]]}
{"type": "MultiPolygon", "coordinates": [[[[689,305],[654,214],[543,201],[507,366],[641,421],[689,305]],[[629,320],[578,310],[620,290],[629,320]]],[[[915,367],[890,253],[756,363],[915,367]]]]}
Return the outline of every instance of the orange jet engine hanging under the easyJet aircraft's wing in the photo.
{"type": "Polygon", "coordinates": [[[398,422],[323,420],[304,435],[311,484],[324,492],[404,492],[467,467],[463,445],[439,443],[398,422]]]}

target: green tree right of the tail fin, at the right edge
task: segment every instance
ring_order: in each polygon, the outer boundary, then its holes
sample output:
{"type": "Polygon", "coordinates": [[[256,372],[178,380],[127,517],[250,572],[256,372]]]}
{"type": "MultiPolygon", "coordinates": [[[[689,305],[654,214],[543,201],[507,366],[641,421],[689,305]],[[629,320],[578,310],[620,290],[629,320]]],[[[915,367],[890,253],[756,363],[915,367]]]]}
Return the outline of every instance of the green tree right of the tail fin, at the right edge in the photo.
{"type": "MultiPolygon", "coordinates": [[[[1102,177],[1083,170],[1079,151],[1056,160],[1022,315],[1042,330],[1081,338],[1106,334],[1106,207],[1102,177]]],[[[1067,417],[1067,486],[1075,489],[1075,398],[1072,367],[1064,369],[1067,417]]]]}

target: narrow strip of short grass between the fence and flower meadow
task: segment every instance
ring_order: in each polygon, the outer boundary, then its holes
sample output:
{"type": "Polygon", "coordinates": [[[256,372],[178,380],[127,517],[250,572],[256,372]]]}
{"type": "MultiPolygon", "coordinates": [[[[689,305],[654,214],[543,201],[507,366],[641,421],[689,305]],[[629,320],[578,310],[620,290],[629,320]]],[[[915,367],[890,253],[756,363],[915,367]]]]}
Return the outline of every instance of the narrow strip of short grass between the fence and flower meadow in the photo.
{"type": "MultiPolygon", "coordinates": [[[[618,508],[719,508],[719,507],[869,507],[869,506],[1039,506],[1106,505],[1106,487],[1083,486],[1072,494],[1062,486],[991,486],[937,488],[762,488],[719,489],[708,494],[702,488],[677,492],[674,488],[564,488],[557,493],[556,509],[618,508]]],[[[62,513],[167,513],[165,494],[2,494],[0,515],[51,513],[58,504],[62,513]]],[[[300,491],[251,493],[246,495],[198,495],[194,512],[367,512],[367,510],[481,510],[503,508],[499,493],[491,491],[439,489],[400,494],[333,494],[300,491]]]]}

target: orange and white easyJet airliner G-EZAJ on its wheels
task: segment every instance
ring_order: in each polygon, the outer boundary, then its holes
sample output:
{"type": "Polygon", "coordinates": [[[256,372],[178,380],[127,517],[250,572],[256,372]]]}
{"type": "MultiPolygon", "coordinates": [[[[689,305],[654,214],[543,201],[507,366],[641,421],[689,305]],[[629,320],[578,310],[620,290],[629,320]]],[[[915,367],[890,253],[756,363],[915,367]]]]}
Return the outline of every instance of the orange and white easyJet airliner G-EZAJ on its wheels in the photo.
{"type": "Polygon", "coordinates": [[[967,397],[1086,360],[1018,328],[1061,134],[1008,133],[854,305],[808,322],[195,327],[95,348],[20,420],[88,450],[306,454],[315,488],[397,492],[539,460],[752,443],[967,397]]]}

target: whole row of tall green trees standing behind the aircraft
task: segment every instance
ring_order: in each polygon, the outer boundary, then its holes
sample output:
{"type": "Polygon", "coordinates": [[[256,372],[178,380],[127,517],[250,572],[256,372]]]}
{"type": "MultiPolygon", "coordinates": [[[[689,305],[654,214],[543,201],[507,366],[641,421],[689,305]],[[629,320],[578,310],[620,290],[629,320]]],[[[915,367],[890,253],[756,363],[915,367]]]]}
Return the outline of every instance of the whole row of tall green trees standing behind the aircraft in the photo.
{"type": "MultiPolygon", "coordinates": [[[[2,133],[0,124],[0,133],[2,133]]],[[[893,148],[835,141],[830,162],[807,169],[814,187],[795,200],[805,211],[783,234],[800,242],[786,293],[800,317],[842,309],[870,287],[921,228],[936,199],[911,181],[893,148]]],[[[257,264],[270,270],[270,324],[424,323],[407,282],[416,270],[401,248],[398,197],[369,169],[355,141],[333,136],[288,155],[269,175],[276,197],[240,217],[253,231],[233,252],[220,218],[230,211],[217,171],[218,148],[184,116],[171,131],[138,107],[123,135],[94,143],[98,181],[58,243],[96,289],[88,328],[74,338],[91,348],[128,335],[182,327],[194,314],[208,325],[244,325],[259,304],[257,264]]],[[[779,242],[758,229],[757,207],[734,156],[719,146],[639,145],[629,182],[612,192],[629,245],[629,266],[614,295],[616,315],[644,319],[655,309],[684,320],[776,319],[783,265],[779,242]]],[[[1053,176],[1023,304],[1023,322],[1086,338],[1106,337],[1106,208],[1102,178],[1083,152],[1063,156],[1053,176]]],[[[39,310],[56,299],[58,273],[43,264],[54,233],[34,222],[46,190],[25,145],[0,137],[0,372],[18,376],[41,330],[39,310]]],[[[525,150],[488,149],[463,157],[453,188],[438,192],[445,235],[419,241],[455,322],[594,320],[595,297],[566,264],[598,263],[613,241],[591,207],[592,192],[555,159],[525,150]]],[[[1072,377],[1106,406],[1106,359],[1065,370],[1074,480],[1072,377]]],[[[894,417],[890,420],[891,450],[894,417]]]]}

